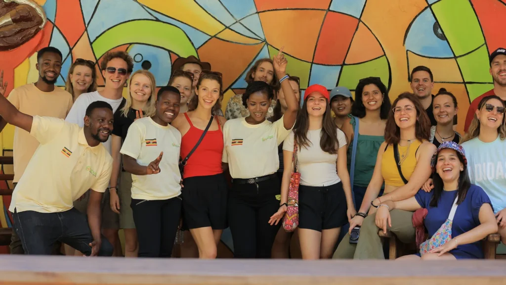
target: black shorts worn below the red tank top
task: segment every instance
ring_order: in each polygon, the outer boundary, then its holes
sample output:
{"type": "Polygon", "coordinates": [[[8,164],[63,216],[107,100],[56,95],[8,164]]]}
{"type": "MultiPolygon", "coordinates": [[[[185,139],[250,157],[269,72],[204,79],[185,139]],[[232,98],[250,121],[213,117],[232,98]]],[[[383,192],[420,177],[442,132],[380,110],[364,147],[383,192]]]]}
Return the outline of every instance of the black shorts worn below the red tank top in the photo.
{"type": "Polygon", "coordinates": [[[227,228],[227,181],[223,173],[183,181],[183,229],[227,228]]]}

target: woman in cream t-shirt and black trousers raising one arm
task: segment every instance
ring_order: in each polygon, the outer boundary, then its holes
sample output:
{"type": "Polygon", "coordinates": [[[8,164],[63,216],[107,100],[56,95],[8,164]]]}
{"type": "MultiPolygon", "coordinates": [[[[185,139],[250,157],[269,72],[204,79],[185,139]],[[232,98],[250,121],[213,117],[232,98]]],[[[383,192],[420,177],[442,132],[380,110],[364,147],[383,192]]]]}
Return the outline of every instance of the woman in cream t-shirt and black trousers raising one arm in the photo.
{"type": "Polygon", "coordinates": [[[266,120],[274,93],[266,82],[255,81],[242,97],[249,116],[228,120],[223,126],[222,160],[232,176],[227,215],[236,258],[270,258],[279,229],[278,223],[269,223],[280,205],[278,145],[293,127],[299,109],[286,63],[281,49],[274,57],[274,69],[287,105],[283,116],[273,123],[266,120]]]}

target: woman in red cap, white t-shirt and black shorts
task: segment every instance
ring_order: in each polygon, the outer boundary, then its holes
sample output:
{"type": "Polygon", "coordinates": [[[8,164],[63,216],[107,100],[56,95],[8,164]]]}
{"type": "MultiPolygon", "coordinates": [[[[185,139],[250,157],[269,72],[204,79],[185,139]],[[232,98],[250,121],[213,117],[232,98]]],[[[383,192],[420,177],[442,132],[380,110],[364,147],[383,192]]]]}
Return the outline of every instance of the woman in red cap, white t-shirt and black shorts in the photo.
{"type": "MultiPolygon", "coordinates": [[[[299,187],[299,238],[303,259],[332,256],[341,227],[355,215],[350,175],[346,166],[346,136],[335,126],[328,91],[311,85],[297,122],[283,144],[284,165],[292,165],[293,152],[301,173],[299,187]],[[296,146],[296,148],[294,148],[296,146]],[[337,169],[337,171],[336,171],[337,169]]],[[[270,222],[278,222],[287,207],[292,167],[285,167],[281,207],[270,222]]]]}

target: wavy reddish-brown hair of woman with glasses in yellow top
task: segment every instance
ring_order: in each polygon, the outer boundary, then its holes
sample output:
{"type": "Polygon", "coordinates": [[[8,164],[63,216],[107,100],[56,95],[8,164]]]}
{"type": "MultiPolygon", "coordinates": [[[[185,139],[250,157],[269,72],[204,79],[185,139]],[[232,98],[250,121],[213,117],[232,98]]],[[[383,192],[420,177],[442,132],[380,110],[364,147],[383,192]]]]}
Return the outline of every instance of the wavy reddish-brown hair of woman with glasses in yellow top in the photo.
{"type": "MultiPolygon", "coordinates": [[[[420,100],[409,92],[404,92],[394,100],[392,107],[395,108],[397,103],[402,99],[410,100],[416,109],[416,123],[415,123],[415,136],[419,141],[429,140],[431,134],[431,121],[424,106],[421,105],[420,100]]],[[[399,144],[401,138],[401,129],[395,123],[394,112],[389,112],[387,124],[385,126],[385,141],[389,145],[399,144]]]]}

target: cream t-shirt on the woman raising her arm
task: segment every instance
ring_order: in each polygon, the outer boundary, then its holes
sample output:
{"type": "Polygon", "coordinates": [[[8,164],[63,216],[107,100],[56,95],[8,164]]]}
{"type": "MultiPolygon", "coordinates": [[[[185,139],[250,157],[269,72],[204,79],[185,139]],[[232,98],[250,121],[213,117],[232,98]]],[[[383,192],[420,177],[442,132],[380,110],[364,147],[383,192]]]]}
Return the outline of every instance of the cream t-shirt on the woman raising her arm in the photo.
{"type": "Polygon", "coordinates": [[[288,133],[283,117],[258,125],[246,123],[245,118],[228,120],[223,125],[222,161],[228,163],[230,176],[249,179],[275,173],[279,168],[278,145],[288,133]]]}

